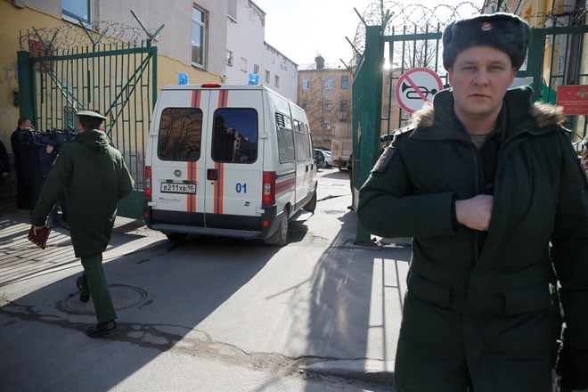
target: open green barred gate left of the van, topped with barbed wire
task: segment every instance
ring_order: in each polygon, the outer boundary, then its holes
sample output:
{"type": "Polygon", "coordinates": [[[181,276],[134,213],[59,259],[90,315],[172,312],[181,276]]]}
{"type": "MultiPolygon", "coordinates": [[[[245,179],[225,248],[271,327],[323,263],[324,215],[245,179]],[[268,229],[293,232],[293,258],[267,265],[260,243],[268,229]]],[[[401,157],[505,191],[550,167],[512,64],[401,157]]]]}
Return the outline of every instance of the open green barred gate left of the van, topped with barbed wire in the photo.
{"type": "Polygon", "coordinates": [[[141,219],[146,135],[157,98],[153,43],[163,26],[150,33],[141,24],[146,39],[140,39],[138,29],[96,23],[92,29],[80,22],[81,28],[65,25],[21,35],[20,117],[31,118],[37,131],[69,140],[77,127],[76,112],[104,115],[104,131],[137,184],[135,192],[119,200],[118,215],[141,219]]]}

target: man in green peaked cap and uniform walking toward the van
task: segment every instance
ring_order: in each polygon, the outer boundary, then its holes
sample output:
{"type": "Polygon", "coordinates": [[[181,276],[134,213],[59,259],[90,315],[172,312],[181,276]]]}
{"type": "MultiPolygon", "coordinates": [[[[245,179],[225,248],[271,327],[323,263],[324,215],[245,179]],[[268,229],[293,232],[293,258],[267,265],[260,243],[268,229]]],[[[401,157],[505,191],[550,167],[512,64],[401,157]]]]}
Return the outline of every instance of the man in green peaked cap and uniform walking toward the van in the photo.
{"type": "Polygon", "coordinates": [[[118,199],[132,192],[135,183],[122,155],[110,146],[101,130],[106,118],[94,111],[79,111],[77,115],[78,135],[61,147],[30,223],[35,232],[44,227],[66,189],[71,242],[84,267],[84,274],[77,281],[79,298],[93,299],[98,321],[86,330],[86,335],[98,338],[117,329],[117,314],[102,268],[102,252],[110,242],[118,199]]]}

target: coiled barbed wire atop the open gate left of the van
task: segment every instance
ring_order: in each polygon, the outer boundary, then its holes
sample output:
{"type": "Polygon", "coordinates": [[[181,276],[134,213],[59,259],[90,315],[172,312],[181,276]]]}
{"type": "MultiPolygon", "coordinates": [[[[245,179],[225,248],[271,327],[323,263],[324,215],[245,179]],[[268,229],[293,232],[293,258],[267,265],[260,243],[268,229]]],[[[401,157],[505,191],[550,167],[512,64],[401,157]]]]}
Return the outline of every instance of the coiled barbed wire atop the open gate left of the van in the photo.
{"type": "Polygon", "coordinates": [[[143,45],[150,39],[151,45],[155,45],[157,44],[157,38],[150,37],[154,31],[147,30],[145,32],[138,27],[108,20],[94,20],[86,27],[86,30],[76,24],[69,23],[54,28],[29,29],[26,33],[21,32],[20,50],[29,51],[31,40],[44,45],[50,44],[53,53],[86,45],[118,43],[143,45]],[[92,38],[88,37],[88,34],[92,38]]]}

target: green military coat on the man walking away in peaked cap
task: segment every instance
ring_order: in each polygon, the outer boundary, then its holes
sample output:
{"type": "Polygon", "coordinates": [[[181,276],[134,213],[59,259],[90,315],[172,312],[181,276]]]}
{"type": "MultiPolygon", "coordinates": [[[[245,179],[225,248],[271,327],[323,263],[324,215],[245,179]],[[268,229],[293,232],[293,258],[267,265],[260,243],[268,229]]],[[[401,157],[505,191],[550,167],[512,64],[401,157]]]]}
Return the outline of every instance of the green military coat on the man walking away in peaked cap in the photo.
{"type": "Polygon", "coordinates": [[[110,146],[106,134],[95,129],[81,132],[61,148],[30,223],[45,225],[65,189],[76,257],[100,254],[110,241],[118,199],[127,196],[134,187],[122,155],[110,146]]]}

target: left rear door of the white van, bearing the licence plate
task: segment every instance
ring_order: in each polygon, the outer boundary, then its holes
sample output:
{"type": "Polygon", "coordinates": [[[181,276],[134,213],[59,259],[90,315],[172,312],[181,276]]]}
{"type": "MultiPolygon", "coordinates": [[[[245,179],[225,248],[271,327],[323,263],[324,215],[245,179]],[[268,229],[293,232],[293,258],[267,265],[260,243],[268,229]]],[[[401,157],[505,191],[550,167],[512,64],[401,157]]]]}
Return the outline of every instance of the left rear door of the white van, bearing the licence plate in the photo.
{"type": "Polygon", "coordinates": [[[210,123],[210,92],[165,89],[159,96],[151,151],[153,220],[160,224],[204,225],[206,167],[204,130],[210,123]],[[186,214],[191,213],[191,214],[186,214]]]}

